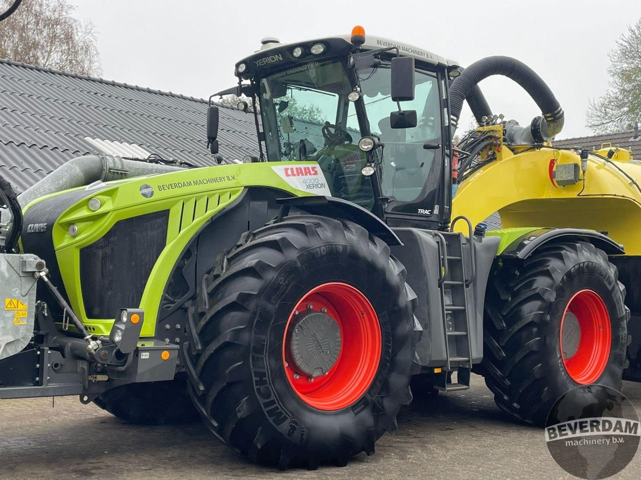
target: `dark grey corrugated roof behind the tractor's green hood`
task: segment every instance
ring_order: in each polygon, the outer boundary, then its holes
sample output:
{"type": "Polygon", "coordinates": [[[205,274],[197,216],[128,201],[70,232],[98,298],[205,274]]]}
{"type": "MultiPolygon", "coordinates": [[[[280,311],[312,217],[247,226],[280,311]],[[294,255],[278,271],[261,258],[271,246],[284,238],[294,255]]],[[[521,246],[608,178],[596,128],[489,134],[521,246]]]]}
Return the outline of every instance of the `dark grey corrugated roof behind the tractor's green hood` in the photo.
{"type": "MultiPolygon", "coordinates": [[[[207,100],[0,60],[0,175],[17,191],[93,154],[85,136],[140,145],[165,159],[212,164],[207,100]]],[[[223,157],[255,154],[253,113],[221,106],[223,157]]]]}

